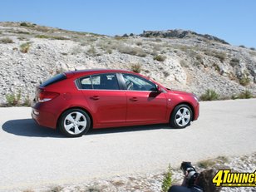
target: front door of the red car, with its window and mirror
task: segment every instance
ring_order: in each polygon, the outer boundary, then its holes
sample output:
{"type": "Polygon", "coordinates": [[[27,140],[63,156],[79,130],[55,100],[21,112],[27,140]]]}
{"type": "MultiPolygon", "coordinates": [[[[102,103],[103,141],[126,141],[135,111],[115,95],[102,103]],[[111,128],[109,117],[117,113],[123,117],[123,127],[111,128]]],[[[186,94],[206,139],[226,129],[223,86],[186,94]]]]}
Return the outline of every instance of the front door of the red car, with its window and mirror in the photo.
{"type": "Polygon", "coordinates": [[[122,74],[126,83],[126,122],[166,121],[166,96],[155,83],[133,74],[122,74]]]}

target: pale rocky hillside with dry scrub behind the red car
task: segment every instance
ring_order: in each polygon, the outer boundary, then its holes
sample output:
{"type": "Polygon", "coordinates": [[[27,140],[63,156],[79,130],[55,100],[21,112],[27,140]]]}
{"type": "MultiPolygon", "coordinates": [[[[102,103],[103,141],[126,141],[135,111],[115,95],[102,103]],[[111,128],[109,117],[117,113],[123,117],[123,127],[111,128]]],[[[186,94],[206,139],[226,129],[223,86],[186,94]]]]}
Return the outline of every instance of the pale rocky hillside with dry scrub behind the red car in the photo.
{"type": "Polygon", "coordinates": [[[0,103],[32,99],[41,81],[62,71],[117,68],[140,71],[163,85],[198,96],[256,94],[256,51],[183,30],[108,37],[29,22],[0,22],[0,103]]]}

